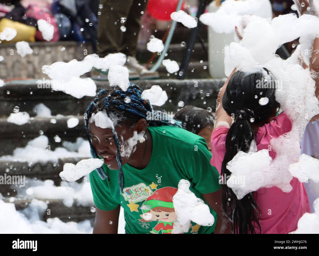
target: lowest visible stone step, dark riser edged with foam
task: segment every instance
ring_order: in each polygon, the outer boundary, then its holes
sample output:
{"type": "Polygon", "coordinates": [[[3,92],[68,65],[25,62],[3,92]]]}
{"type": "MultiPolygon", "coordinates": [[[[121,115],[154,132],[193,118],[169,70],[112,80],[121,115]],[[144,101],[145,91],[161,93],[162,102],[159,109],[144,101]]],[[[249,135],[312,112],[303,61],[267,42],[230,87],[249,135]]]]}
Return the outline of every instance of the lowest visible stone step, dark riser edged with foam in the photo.
{"type": "MultiPolygon", "coordinates": [[[[94,204],[92,206],[80,206],[77,205],[77,201],[74,200],[72,207],[67,207],[63,204],[62,199],[41,199],[41,201],[47,202],[48,209],[50,209],[50,215],[47,214],[47,211],[43,214],[43,221],[46,221],[49,218],[58,217],[63,222],[68,221],[84,221],[90,220],[91,226],[94,224],[95,212],[91,212],[91,207],[95,207],[94,204]]],[[[9,199],[4,199],[4,202],[9,203],[9,199]]],[[[31,203],[31,199],[28,200],[15,200],[14,205],[16,210],[26,209],[31,203]]]]}

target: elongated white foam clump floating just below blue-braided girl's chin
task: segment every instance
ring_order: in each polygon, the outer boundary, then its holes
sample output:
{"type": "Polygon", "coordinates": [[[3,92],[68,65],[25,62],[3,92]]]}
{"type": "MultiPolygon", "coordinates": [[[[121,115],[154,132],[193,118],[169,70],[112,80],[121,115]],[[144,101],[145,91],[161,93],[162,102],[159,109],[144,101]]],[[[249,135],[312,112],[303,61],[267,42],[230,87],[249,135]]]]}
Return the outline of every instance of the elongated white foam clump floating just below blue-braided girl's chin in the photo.
{"type": "Polygon", "coordinates": [[[103,165],[104,160],[99,158],[83,159],[76,165],[72,163],[65,163],[63,165],[63,171],[59,176],[63,181],[73,182],[85,175],[90,174],[96,168],[103,165]]]}

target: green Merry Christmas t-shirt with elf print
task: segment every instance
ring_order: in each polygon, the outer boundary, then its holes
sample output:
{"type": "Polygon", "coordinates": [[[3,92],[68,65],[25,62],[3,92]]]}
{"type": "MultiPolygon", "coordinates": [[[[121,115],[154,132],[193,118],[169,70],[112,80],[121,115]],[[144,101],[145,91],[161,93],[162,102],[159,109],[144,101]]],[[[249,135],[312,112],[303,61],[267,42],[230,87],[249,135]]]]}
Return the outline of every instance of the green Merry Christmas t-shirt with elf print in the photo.
{"type": "MultiPolygon", "coordinates": [[[[110,182],[102,180],[96,170],[90,173],[93,200],[95,206],[103,211],[111,211],[121,205],[126,233],[152,231],[169,234],[176,220],[172,198],[178,182],[189,180],[190,190],[203,199],[201,194],[221,188],[219,173],[210,164],[211,153],[202,137],[170,126],[148,127],[148,130],[153,147],[147,167],[138,170],[129,164],[123,165],[125,184],[120,194],[118,171],[110,170],[104,164],[103,169],[110,182]],[[143,221],[142,214],[146,212],[152,213],[151,221],[143,221]]],[[[217,214],[210,210],[216,223],[217,214]]],[[[192,223],[188,233],[210,234],[214,232],[215,223],[211,227],[192,223]]]]}

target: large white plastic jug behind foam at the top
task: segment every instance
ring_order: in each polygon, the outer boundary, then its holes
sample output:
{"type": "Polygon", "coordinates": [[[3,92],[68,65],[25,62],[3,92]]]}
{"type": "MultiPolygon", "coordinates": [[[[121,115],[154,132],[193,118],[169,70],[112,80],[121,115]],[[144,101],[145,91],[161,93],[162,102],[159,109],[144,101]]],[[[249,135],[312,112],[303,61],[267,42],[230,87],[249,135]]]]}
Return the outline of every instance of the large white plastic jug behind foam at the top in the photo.
{"type": "MultiPolygon", "coordinates": [[[[226,0],[227,1],[227,0],[226,0]]],[[[245,1],[245,0],[240,0],[245,1]]],[[[209,12],[216,12],[220,6],[217,6],[216,0],[209,4],[209,12]]],[[[220,1],[218,1],[220,2],[220,1]]],[[[269,1],[261,5],[256,13],[262,18],[272,18],[271,3],[269,1]]],[[[225,66],[224,66],[224,47],[234,42],[234,33],[216,33],[208,26],[208,64],[209,64],[209,74],[212,78],[224,78],[225,66]]]]}

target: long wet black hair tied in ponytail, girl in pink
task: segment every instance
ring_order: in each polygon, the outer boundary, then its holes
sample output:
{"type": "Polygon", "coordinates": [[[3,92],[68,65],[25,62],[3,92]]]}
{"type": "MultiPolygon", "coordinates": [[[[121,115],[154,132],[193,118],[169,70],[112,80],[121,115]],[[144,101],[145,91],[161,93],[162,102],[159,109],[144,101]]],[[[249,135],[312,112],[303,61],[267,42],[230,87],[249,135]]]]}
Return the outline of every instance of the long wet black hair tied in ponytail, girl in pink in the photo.
{"type": "MultiPolygon", "coordinates": [[[[229,128],[226,136],[226,153],[221,167],[222,176],[231,175],[226,165],[238,151],[246,153],[249,151],[250,145],[255,139],[255,130],[252,124],[271,117],[279,107],[279,103],[275,99],[275,88],[263,86],[262,81],[268,82],[268,85],[270,81],[274,81],[270,71],[266,68],[254,74],[237,71],[227,84],[222,105],[224,110],[234,118],[234,123],[229,128]],[[259,104],[260,98],[263,97],[268,98],[266,105],[259,104]]],[[[255,225],[257,225],[260,233],[261,211],[254,199],[254,192],[238,199],[234,191],[226,185],[226,181],[223,183],[223,208],[232,222],[233,233],[256,233],[255,225]]]]}

